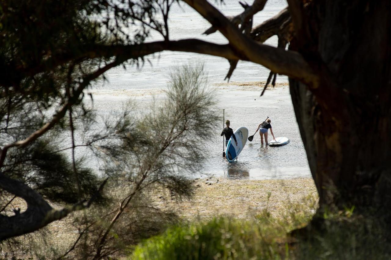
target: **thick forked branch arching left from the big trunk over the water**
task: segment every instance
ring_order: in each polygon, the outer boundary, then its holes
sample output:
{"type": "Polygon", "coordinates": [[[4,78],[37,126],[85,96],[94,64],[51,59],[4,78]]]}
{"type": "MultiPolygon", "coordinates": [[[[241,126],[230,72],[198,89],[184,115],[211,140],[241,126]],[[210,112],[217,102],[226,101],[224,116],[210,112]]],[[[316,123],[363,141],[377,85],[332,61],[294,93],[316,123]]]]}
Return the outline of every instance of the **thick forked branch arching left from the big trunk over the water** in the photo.
{"type": "MultiPolygon", "coordinates": [[[[138,59],[163,50],[194,52],[224,57],[229,60],[252,61],[261,64],[275,73],[288,75],[303,82],[313,83],[317,81],[316,74],[308,66],[303,57],[293,51],[278,50],[272,46],[260,45],[244,36],[235,28],[225,16],[205,0],[185,0],[196,11],[219,28],[223,35],[230,41],[230,45],[219,45],[198,39],[183,39],[179,41],[156,41],[126,46],[88,45],[81,49],[76,56],[73,53],[62,53],[61,57],[52,57],[53,66],[71,61],[72,59],[94,59],[120,57],[121,61],[138,59]],[[204,5],[205,9],[204,9],[204,5]],[[216,16],[216,17],[215,17],[216,16]],[[219,25],[219,26],[217,26],[219,25]]],[[[38,73],[40,69],[32,69],[30,73],[38,73]]]]}

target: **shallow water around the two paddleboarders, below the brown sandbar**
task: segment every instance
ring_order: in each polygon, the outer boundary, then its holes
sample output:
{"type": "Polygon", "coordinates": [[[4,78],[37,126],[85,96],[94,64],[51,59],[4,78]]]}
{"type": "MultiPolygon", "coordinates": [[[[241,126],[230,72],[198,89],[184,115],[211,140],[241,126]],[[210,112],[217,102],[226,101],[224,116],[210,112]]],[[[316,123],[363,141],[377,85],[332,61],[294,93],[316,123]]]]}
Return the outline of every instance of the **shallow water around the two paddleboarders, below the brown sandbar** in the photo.
{"type": "MultiPolygon", "coordinates": [[[[265,142],[264,145],[261,145],[260,135],[257,132],[252,142],[247,141],[238,160],[229,163],[222,158],[222,137],[213,139],[213,146],[208,150],[208,159],[204,167],[205,173],[225,175],[232,178],[248,177],[256,179],[310,176],[307,156],[287,87],[271,89],[262,98],[259,98],[259,91],[222,90],[221,92],[223,91],[228,93],[222,94],[224,98],[219,103],[221,107],[221,129],[223,127],[222,108],[225,109],[225,119],[231,121],[231,128],[235,130],[240,126],[246,126],[249,129],[249,135],[253,135],[258,125],[269,116],[272,120],[274,136],[288,137],[290,142],[278,147],[266,146],[265,142]],[[237,101],[230,108],[225,101],[233,97],[237,101]]],[[[269,131],[269,141],[272,138],[269,131]]]]}

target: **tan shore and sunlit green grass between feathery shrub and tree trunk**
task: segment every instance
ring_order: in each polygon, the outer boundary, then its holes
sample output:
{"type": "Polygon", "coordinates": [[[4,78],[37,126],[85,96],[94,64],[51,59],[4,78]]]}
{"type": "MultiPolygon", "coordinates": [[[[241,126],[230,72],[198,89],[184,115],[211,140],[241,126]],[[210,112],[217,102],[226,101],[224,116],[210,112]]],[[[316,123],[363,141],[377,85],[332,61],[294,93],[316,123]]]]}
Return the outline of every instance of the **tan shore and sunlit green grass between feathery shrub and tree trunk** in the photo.
{"type": "Polygon", "coordinates": [[[131,259],[296,259],[297,240],[289,233],[307,224],[318,207],[312,178],[209,177],[193,185],[190,201],[170,203],[160,196],[183,222],[140,242],[131,259]]]}

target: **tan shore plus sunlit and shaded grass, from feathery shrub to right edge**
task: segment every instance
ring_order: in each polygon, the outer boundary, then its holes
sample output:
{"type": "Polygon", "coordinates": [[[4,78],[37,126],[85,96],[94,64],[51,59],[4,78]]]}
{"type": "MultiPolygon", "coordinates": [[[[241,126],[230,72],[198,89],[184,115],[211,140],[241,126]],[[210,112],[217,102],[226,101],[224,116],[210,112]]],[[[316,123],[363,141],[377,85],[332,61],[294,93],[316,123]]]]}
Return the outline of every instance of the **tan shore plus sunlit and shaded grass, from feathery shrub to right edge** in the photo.
{"type": "Polygon", "coordinates": [[[353,214],[354,207],[317,215],[312,178],[195,180],[193,204],[179,203],[185,219],[142,240],[135,260],[166,259],[390,259],[384,220],[353,214]],[[218,181],[217,181],[218,180],[218,181]],[[201,207],[200,207],[201,206],[201,207]],[[218,213],[218,214],[216,214],[218,213]],[[187,214],[187,215],[185,215],[187,214]],[[193,220],[191,220],[193,219],[193,220]],[[309,225],[308,225],[309,224],[309,225]],[[307,226],[308,225],[308,226],[307,226]]]}

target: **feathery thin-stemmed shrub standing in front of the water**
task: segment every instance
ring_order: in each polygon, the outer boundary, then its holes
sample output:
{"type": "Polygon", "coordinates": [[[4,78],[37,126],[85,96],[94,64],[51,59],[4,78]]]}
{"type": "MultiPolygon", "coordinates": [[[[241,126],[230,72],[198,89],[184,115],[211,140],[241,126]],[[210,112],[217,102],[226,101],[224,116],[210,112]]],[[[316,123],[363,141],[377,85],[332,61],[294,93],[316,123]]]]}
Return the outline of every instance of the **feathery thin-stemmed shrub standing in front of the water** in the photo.
{"type": "Polygon", "coordinates": [[[94,246],[88,248],[89,253],[79,252],[87,254],[86,258],[112,255],[159,232],[167,223],[164,220],[172,219],[172,213],[151,204],[149,192],[163,187],[178,198],[190,196],[184,173],[192,173],[202,162],[202,148],[195,142],[212,134],[217,120],[214,104],[203,67],[185,66],[172,74],[167,99],[155,104],[151,114],[129,120],[131,129],[118,128],[122,142],[106,141],[100,147],[106,158],[113,158],[113,163],[108,162],[112,181],[106,195],[114,203],[82,219],[83,225],[90,226],[88,244],[94,246]],[[119,208],[115,207],[118,203],[119,208]]]}

